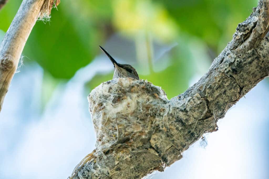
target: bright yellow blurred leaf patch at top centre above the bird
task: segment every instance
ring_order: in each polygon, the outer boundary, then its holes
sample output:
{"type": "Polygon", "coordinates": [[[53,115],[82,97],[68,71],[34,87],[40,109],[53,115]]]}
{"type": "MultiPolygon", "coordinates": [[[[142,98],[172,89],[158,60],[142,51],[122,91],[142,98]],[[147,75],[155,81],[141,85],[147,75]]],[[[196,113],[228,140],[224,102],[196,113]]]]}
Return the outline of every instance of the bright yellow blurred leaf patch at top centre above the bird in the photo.
{"type": "Polygon", "coordinates": [[[178,34],[177,24],[161,4],[151,1],[113,1],[113,24],[129,35],[146,30],[163,41],[173,41],[178,34]]]}

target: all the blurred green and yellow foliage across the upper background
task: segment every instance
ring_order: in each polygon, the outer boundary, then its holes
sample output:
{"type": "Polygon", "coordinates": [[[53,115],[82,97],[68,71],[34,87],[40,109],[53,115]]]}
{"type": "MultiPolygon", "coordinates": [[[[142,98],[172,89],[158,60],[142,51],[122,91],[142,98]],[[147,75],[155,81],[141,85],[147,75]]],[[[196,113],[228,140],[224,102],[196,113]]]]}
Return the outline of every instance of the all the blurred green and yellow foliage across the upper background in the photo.
{"type": "MultiPolygon", "coordinates": [[[[0,11],[0,30],[7,31],[21,2],[8,1],[0,11]]],[[[210,64],[208,60],[220,53],[231,40],[237,24],[256,5],[257,0],[62,0],[58,10],[52,10],[50,21],[38,21],[34,26],[23,51],[28,57],[24,64],[31,61],[40,64],[47,74],[44,88],[54,89],[55,79],[57,83],[59,79],[70,79],[101,53],[98,45],[120,33],[122,38],[136,43],[132,51],[137,55],[135,67],[140,78],[162,86],[170,98],[186,90],[190,78],[198,73],[197,66],[203,66],[197,63],[210,64]],[[167,68],[151,69],[158,60],[154,58],[153,42],[150,42],[153,51],[145,50],[143,58],[139,57],[137,50],[143,49],[138,48],[139,34],[150,34],[163,46],[178,43],[165,54],[166,59],[158,57],[169,61],[167,68]],[[202,43],[194,45],[196,42],[202,43]],[[200,53],[195,48],[207,50],[194,56],[193,53],[200,53]],[[151,53],[153,57],[149,59],[151,53]],[[147,73],[144,68],[148,68],[147,73]]],[[[207,68],[205,65],[204,71],[207,68]]],[[[200,69],[200,75],[204,71],[200,69]]],[[[112,76],[112,72],[98,74],[86,86],[92,89],[112,76]]]]}

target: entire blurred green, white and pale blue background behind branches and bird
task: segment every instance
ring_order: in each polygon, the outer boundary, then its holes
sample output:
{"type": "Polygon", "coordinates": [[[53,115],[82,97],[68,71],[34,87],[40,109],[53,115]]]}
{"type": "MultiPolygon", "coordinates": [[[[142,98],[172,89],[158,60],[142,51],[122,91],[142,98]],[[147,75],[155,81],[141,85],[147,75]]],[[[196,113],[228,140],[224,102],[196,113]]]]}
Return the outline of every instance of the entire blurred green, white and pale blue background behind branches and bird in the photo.
{"type": "MultiPolygon", "coordinates": [[[[0,10],[0,39],[21,0],[0,10]]],[[[0,113],[0,178],[67,178],[95,148],[87,96],[133,65],[172,98],[197,82],[257,0],[62,0],[34,26],[0,113]]],[[[265,79],[183,159],[149,178],[269,178],[265,79]]]]}

